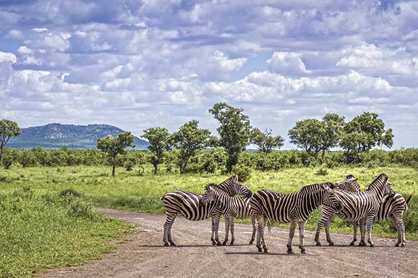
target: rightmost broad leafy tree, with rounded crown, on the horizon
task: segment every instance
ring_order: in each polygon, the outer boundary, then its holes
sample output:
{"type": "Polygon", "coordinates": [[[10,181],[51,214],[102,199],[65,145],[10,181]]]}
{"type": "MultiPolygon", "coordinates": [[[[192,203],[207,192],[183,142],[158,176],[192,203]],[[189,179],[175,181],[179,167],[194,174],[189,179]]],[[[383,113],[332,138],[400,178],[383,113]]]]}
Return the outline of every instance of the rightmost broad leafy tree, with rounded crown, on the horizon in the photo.
{"type": "Polygon", "coordinates": [[[364,112],[344,126],[341,147],[346,151],[347,162],[352,162],[353,155],[369,152],[376,146],[392,147],[394,141],[392,129],[385,130],[385,123],[376,113],[364,112]]]}

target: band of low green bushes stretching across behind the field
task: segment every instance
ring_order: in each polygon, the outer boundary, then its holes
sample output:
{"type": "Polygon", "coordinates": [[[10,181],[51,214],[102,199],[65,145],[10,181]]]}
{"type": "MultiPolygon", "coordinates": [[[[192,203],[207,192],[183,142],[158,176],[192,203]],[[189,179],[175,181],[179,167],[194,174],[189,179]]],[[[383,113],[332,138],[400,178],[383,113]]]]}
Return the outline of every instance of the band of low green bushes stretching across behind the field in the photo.
{"type": "MultiPolygon", "coordinates": [[[[180,172],[182,161],[179,159],[180,151],[172,150],[164,154],[165,170],[180,172]]],[[[116,165],[125,167],[125,170],[144,172],[144,165],[151,163],[153,153],[150,151],[129,151],[116,156],[116,165]]],[[[224,149],[198,150],[189,159],[189,163],[183,169],[185,173],[214,173],[225,172],[228,154],[224,149]]],[[[313,158],[307,152],[272,151],[242,152],[236,168],[249,167],[252,170],[270,171],[281,170],[288,167],[314,167],[320,165],[318,158],[313,158]]],[[[322,161],[323,167],[339,167],[348,165],[343,151],[327,152],[322,161]]],[[[97,149],[61,149],[47,150],[42,147],[34,149],[4,149],[1,165],[8,169],[12,165],[17,167],[58,167],[72,165],[113,165],[113,162],[104,152],[97,149]]],[[[408,148],[394,151],[373,149],[370,152],[362,152],[356,162],[349,165],[366,167],[385,167],[388,165],[403,165],[418,167],[418,149],[408,148]]]]}

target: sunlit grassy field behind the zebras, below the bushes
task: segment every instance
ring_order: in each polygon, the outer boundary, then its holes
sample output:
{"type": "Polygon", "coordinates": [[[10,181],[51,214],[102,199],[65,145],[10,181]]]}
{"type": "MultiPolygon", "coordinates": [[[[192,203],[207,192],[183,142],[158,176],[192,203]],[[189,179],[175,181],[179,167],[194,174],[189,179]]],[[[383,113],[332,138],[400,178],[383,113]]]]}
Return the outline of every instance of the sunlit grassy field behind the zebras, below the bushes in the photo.
{"type": "MultiPolygon", "coordinates": [[[[0,170],[0,193],[10,194],[16,188],[29,186],[36,195],[59,192],[72,188],[82,193],[95,206],[121,208],[131,211],[148,213],[164,213],[160,197],[170,190],[180,189],[192,192],[202,192],[206,183],[219,183],[228,178],[221,174],[173,174],[166,173],[164,168],[160,174],[150,174],[151,168],[146,168],[143,177],[134,172],[125,172],[118,168],[116,178],[110,176],[110,167],[13,167],[11,170],[0,170]]],[[[327,169],[327,174],[318,175],[318,168],[300,167],[284,169],[278,172],[251,173],[251,179],[245,182],[251,190],[262,188],[290,193],[302,186],[325,181],[340,181],[347,174],[358,177],[362,190],[366,189],[374,177],[386,173],[394,190],[406,197],[417,196],[418,170],[410,167],[335,167],[327,169]]],[[[412,197],[408,213],[404,221],[407,238],[418,239],[418,201],[412,197]]],[[[308,221],[307,229],[316,229],[320,213],[314,212],[308,221]]],[[[282,227],[288,227],[282,224],[282,227]]],[[[332,231],[351,233],[351,225],[336,219],[332,231]]],[[[396,230],[389,221],[373,225],[373,234],[380,236],[396,236],[396,230]]]]}

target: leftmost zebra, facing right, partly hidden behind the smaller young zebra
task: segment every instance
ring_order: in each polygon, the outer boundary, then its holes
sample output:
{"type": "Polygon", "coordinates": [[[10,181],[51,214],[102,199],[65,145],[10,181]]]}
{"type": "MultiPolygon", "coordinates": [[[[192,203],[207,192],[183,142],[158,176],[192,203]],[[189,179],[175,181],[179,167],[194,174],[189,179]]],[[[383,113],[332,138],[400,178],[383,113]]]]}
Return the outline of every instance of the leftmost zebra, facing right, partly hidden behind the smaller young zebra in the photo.
{"type": "MultiPolygon", "coordinates": [[[[238,175],[223,181],[219,184],[219,188],[222,188],[222,190],[231,196],[251,195],[251,190],[241,183],[238,175]]],[[[199,221],[212,216],[212,236],[210,239],[212,240],[212,245],[221,245],[217,234],[221,212],[215,203],[199,205],[201,197],[201,194],[173,190],[161,198],[164,203],[164,211],[167,214],[167,220],[164,223],[164,246],[169,246],[169,243],[172,246],[176,245],[171,238],[171,227],[178,214],[183,215],[184,218],[192,221],[199,221]],[[215,225],[218,225],[218,227],[215,225]]]]}

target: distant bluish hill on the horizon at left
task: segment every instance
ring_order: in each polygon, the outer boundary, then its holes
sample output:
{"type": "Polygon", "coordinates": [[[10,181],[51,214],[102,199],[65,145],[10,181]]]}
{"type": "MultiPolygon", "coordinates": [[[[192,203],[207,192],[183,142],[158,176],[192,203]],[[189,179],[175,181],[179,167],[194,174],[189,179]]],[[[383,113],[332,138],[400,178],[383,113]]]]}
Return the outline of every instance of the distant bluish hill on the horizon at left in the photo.
{"type": "MultiPolygon", "coordinates": [[[[59,149],[67,146],[69,149],[95,149],[98,139],[116,137],[121,132],[122,129],[108,124],[46,124],[22,129],[22,134],[11,138],[6,147],[31,149],[40,146],[45,149],[59,149]]],[[[149,145],[146,140],[137,137],[134,140],[137,146],[135,149],[146,149],[149,145]]]]}

